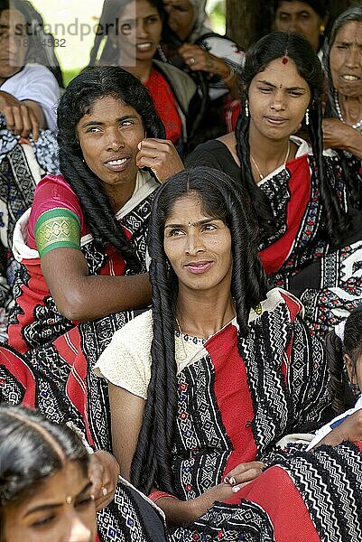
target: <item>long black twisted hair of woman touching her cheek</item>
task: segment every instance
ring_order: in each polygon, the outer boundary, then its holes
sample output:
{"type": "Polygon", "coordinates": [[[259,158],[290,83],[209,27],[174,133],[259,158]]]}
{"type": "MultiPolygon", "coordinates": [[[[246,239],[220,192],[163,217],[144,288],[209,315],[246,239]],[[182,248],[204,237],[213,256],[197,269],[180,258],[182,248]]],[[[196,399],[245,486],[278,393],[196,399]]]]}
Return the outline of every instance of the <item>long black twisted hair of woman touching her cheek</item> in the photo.
{"type": "Polygon", "coordinates": [[[135,250],[125,238],[100,180],[83,160],[77,125],[98,99],[111,96],[134,107],[148,137],[164,139],[165,131],[150,93],[134,75],[116,66],[86,68],[70,81],[58,107],[60,172],[79,198],[88,228],[102,245],[110,243],[134,272],[141,271],[135,250]]]}

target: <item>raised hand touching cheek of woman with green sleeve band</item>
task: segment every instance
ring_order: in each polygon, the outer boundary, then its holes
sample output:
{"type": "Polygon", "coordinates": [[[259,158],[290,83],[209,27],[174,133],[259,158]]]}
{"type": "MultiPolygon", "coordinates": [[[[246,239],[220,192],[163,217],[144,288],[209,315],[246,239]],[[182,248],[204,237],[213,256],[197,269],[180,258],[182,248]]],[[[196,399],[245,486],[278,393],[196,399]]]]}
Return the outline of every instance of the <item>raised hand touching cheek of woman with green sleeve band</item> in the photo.
{"type": "Polygon", "coordinates": [[[180,155],[168,139],[148,137],[138,144],[135,158],[138,167],[149,167],[160,182],[185,169],[180,155]]]}

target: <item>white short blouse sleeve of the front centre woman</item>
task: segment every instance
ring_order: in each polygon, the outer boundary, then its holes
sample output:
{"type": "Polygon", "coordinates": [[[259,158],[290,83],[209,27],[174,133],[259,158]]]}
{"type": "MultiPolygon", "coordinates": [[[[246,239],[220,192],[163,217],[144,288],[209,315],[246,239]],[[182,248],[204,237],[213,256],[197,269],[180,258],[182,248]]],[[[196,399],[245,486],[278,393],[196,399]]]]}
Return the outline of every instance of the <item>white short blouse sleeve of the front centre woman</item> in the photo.
{"type": "Polygon", "coordinates": [[[94,367],[99,377],[137,397],[147,398],[151,378],[152,312],[140,314],[118,330],[94,367]]]}

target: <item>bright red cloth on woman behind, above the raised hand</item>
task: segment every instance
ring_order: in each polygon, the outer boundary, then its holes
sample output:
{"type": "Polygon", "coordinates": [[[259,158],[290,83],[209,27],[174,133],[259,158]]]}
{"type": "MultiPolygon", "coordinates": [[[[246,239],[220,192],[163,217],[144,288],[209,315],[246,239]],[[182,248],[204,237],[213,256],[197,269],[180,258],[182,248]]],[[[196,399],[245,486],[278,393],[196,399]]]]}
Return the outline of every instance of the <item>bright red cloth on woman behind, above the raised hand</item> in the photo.
{"type": "Polygon", "coordinates": [[[166,138],[176,145],[182,135],[182,124],[172,88],[157,70],[153,70],[144,86],[153,98],[154,107],[166,130],[166,138]]]}

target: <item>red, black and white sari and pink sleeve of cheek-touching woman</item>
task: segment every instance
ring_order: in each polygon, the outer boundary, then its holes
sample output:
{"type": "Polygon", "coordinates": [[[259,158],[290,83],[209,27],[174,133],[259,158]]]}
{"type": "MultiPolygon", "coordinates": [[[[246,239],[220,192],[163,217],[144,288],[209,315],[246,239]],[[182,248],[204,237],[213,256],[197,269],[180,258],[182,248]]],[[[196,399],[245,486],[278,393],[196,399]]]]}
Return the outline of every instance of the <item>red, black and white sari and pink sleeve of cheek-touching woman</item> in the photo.
{"type": "MultiPolygon", "coordinates": [[[[145,272],[146,234],[156,183],[148,176],[137,182],[138,188],[133,199],[127,203],[128,207],[119,211],[123,213],[122,216],[117,213],[116,218],[121,221],[126,238],[135,248],[135,254],[145,272]]],[[[26,215],[22,218],[23,231],[26,228],[28,231],[29,245],[34,243],[32,232],[37,216],[47,210],[51,203],[55,206],[61,204],[73,212],[77,206],[79,208],[74,192],[62,178],[48,177],[39,187],[40,192],[35,197],[30,220],[26,215]],[[53,196],[51,202],[48,201],[50,194],[53,196]]],[[[104,248],[96,244],[88,234],[82,214],[79,214],[79,221],[82,225],[80,249],[87,261],[89,275],[130,274],[124,258],[116,248],[104,248]]],[[[23,353],[23,358],[17,362],[19,378],[16,376],[16,363],[7,367],[8,376],[2,390],[4,400],[27,401],[30,405],[27,397],[31,393],[32,378],[29,385],[26,382],[23,384],[23,375],[28,375],[29,370],[35,371],[39,373],[35,380],[43,382],[45,395],[42,396],[38,389],[37,393],[32,393],[32,401],[35,401],[36,406],[41,406],[42,398],[46,397],[46,403],[42,406],[44,415],[51,416],[57,411],[59,419],[67,421],[74,418],[89,444],[109,449],[107,387],[93,375],[91,368],[116,329],[133,318],[134,312],[109,314],[89,322],[67,320],[59,313],[42,276],[38,252],[24,242],[20,231],[18,233],[21,238],[16,238],[15,246],[23,259],[14,288],[15,305],[10,316],[9,344],[17,352],[23,353]],[[10,375],[15,375],[15,378],[10,375]],[[51,383],[59,397],[53,397],[53,389],[48,388],[52,386],[51,383]]]]}

